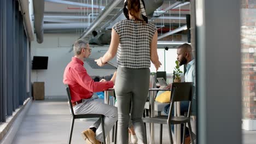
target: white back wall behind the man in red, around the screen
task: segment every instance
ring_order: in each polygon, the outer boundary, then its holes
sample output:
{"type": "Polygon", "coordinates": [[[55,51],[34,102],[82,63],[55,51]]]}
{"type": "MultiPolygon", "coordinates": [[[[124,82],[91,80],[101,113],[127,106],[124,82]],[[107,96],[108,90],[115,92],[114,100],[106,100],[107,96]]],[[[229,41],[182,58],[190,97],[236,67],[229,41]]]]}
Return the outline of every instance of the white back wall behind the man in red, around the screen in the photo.
{"type": "MultiPolygon", "coordinates": [[[[78,35],[75,34],[44,34],[44,42],[38,44],[31,43],[31,60],[33,56],[48,56],[48,69],[32,70],[31,82],[43,81],[45,87],[45,98],[66,98],[66,90],[62,83],[63,71],[73,57],[71,47],[78,35]]],[[[91,47],[91,57],[98,58],[103,55],[108,47],[91,47]],[[102,52],[98,52],[103,50],[102,52]]],[[[84,64],[89,75],[110,75],[114,70],[91,69],[88,64],[84,64]]]]}

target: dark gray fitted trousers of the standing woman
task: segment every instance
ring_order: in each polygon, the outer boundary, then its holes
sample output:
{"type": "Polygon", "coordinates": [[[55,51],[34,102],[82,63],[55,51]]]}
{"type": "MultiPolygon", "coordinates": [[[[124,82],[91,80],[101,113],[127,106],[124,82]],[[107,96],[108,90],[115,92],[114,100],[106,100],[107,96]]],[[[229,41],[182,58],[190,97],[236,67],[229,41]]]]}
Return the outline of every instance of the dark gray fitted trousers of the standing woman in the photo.
{"type": "Polygon", "coordinates": [[[115,94],[118,101],[118,143],[128,143],[130,112],[138,143],[146,143],[142,115],[148,97],[149,75],[149,68],[130,69],[118,67],[115,80],[115,94]]]}

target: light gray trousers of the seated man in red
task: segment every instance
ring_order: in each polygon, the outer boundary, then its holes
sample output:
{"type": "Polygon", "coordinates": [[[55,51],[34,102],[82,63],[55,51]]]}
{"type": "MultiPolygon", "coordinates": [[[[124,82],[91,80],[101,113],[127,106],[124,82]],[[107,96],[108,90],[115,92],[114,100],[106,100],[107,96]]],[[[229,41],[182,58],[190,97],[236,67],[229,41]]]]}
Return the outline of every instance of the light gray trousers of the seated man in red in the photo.
{"type": "MultiPolygon", "coordinates": [[[[93,97],[90,99],[84,99],[83,103],[75,105],[73,110],[75,114],[94,113],[104,115],[104,129],[105,134],[108,135],[109,131],[118,120],[118,110],[117,107],[104,104],[103,102],[104,101],[102,99],[93,97]]],[[[102,127],[100,124],[101,119],[98,119],[98,121],[92,124],[90,128],[97,128],[95,138],[98,141],[103,141],[102,127]]]]}

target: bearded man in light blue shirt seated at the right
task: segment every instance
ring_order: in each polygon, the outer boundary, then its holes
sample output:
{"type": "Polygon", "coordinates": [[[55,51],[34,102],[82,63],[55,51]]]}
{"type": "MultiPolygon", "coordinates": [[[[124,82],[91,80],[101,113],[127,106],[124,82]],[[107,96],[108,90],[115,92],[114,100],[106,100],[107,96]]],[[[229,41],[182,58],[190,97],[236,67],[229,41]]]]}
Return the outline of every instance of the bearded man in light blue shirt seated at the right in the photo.
{"type": "MultiPolygon", "coordinates": [[[[179,66],[181,65],[185,65],[185,67],[187,68],[187,71],[185,73],[185,82],[193,82],[193,85],[195,86],[195,59],[193,56],[193,52],[192,52],[192,47],[189,44],[182,44],[178,47],[177,49],[177,60],[179,61],[179,66]]],[[[171,88],[172,85],[168,85],[167,88],[171,88]]],[[[196,97],[195,97],[195,93],[193,96],[193,102],[192,102],[192,113],[196,112],[196,97]]],[[[184,112],[188,111],[188,107],[189,107],[189,103],[188,101],[181,101],[180,103],[180,109],[181,109],[181,115],[184,115],[184,112]]],[[[168,112],[170,110],[170,104],[166,105],[164,108],[164,112],[168,115],[168,112]]],[[[183,125],[182,125],[183,127],[183,125]]],[[[172,128],[173,129],[173,128],[172,128]]],[[[189,131],[186,130],[186,140],[185,143],[189,143],[188,139],[190,139],[189,137],[189,131]],[[187,139],[188,137],[188,139],[187,139]]],[[[182,128],[182,133],[183,134],[183,128],[182,128]]]]}

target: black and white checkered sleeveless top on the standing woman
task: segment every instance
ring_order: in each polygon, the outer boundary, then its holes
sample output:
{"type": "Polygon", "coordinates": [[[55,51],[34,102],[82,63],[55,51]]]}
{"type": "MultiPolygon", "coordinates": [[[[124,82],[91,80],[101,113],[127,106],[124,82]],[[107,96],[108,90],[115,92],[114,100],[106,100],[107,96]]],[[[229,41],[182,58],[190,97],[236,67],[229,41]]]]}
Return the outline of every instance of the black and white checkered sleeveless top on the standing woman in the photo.
{"type": "Polygon", "coordinates": [[[120,43],[117,63],[123,68],[149,68],[150,43],[156,31],[152,23],[135,20],[123,20],[113,26],[118,33],[120,43]]]}

